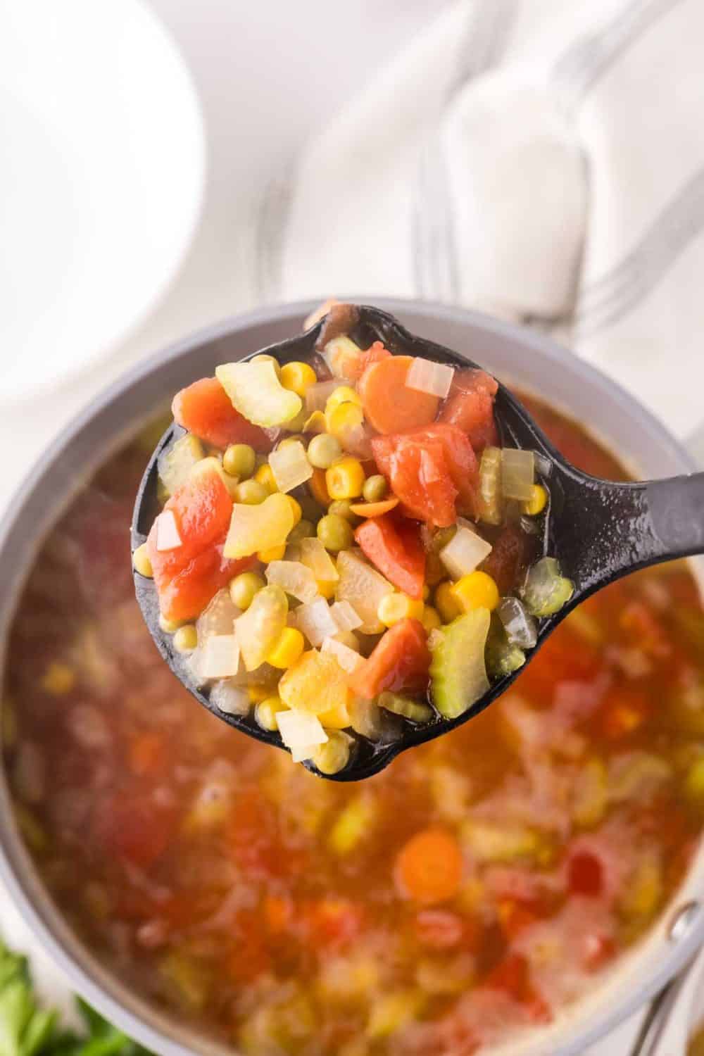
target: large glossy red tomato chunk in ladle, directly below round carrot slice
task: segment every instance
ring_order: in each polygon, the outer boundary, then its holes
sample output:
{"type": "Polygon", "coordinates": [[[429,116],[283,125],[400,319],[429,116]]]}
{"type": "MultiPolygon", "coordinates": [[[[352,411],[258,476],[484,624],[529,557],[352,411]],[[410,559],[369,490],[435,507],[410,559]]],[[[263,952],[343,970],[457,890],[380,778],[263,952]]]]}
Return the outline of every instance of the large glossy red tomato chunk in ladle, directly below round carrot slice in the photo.
{"type": "Polygon", "coordinates": [[[372,450],[392,491],[413,516],[446,528],[458,511],[474,512],[477,459],[461,430],[436,423],[376,436],[372,450]]]}

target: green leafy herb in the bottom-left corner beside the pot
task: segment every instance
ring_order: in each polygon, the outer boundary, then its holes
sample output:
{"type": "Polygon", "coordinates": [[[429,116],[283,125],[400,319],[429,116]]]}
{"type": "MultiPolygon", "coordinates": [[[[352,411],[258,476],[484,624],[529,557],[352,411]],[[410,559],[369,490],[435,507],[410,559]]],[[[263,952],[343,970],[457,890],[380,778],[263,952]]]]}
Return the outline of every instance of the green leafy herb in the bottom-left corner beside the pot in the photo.
{"type": "Polygon", "coordinates": [[[40,1008],[25,957],[0,942],[0,1056],[151,1056],[76,999],[85,1033],[64,1030],[54,1010],[40,1008]]]}

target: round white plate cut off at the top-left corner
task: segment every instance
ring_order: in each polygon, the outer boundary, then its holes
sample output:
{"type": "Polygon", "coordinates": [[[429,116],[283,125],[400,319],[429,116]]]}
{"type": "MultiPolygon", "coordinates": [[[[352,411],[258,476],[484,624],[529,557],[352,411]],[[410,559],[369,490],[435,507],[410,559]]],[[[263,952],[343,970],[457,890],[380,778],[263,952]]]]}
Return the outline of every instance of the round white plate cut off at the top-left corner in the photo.
{"type": "Polygon", "coordinates": [[[144,319],[204,180],[190,75],[138,0],[0,0],[0,399],[94,362],[144,319]]]}

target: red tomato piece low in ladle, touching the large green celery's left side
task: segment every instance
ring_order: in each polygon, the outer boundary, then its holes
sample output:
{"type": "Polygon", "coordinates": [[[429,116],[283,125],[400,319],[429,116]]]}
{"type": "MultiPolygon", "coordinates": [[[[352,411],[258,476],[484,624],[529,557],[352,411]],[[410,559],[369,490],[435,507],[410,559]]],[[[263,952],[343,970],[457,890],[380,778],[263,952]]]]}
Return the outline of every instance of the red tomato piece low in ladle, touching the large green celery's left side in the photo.
{"type": "Polygon", "coordinates": [[[399,620],[379,640],[372,655],[353,676],[355,693],[373,700],[384,690],[424,691],[431,652],[419,620],[399,620]]]}

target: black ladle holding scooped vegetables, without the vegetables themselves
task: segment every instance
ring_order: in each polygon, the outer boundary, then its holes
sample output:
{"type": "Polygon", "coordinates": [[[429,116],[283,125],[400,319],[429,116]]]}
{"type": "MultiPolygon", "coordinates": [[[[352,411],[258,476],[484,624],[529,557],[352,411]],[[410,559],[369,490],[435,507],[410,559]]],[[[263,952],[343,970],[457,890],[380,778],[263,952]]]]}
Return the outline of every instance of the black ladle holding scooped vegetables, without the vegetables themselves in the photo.
{"type": "MultiPolygon", "coordinates": [[[[275,356],[281,363],[308,358],[316,353],[325,326],[326,320],[323,319],[305,334],[267,348],[255,350],[251,356],[267,353],[275,356]]],[[[323,341],[328,334],[329,324],[328,331],[323,334],[323,341]]],[[[363,347],[375,340],[381,340],[394,354],[421,356],[458,367],[477,365],[442,345],[415,337],[393,316],[378,308],[361,306],[355,309],[353,336],[363,347]]],[[[389,399],[393,399],[393,394],[389,394],[389,399]]],[[[503,447],[535,451],[551,464],[546,482],[550,502],[544,514],[541,547],[544,553],[557,558],[563,574],[569,577],[575,587],[572,598],[559,612],[538,621],[537,644],[526,657],[526,662],[530,663],[555,627],[575,605],[595,590],[647,565],[704,552],[704,473],[628,484],[600,480],[570,465],[545,436],[522,403],[500,383],[496,394],[495,415],[503,447]]],[[[175,425],[167,430],[142,477],[132,522],[133,549],[145,542],[160,510],[157,499],[157,459],[179,432],[175,425]]],[[[240,717],[221,712],[211,704],[208,690],[199,689],[189,680],[183,661],[174,654],[170,636],[159,627],[158,602],[153,581],[136,572],[134,579],[137,601],[152,638],[186,689],[213,715],[242,733],[267,744],[284,748],[279,734],[262,730],[251,714],[240,717]]],[[[388,743],[375,743],[356,735],[357,743],[347,767],[330,779],[347,781],[369,777],[388,766],[399,752],[461,725],[500,696],[520,671],[522,668],[494,682],[489,692],[459,718],[446,720],[437,716],[435,721],[417,727],[404,723],[400,738],[388,743]]],[[[306,766],[319,774],[312,763],[306,766]]]]}

